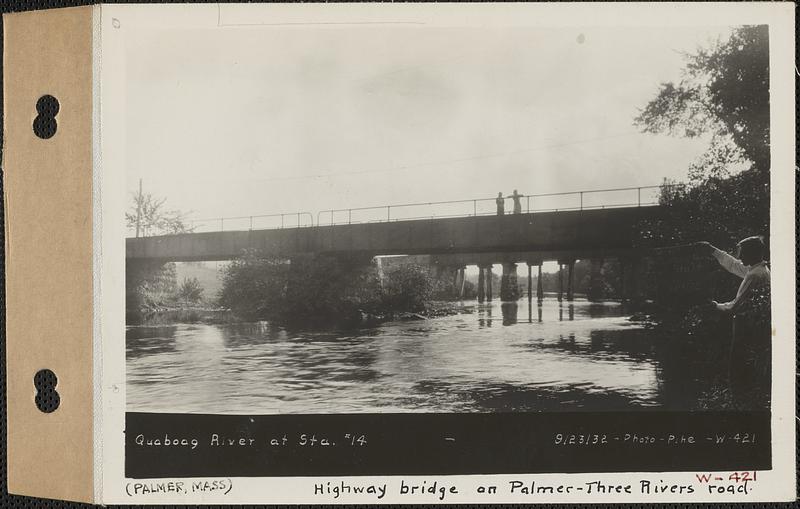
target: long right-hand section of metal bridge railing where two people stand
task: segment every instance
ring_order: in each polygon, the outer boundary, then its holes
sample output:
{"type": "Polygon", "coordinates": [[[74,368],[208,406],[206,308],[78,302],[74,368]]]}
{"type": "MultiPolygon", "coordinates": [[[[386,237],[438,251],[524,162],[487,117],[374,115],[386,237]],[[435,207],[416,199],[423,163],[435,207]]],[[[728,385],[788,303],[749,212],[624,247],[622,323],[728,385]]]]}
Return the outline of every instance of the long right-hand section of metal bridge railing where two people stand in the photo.
{"type": "MultiPolygon", "coordinates": [[[[620,207],[649,207],[659,205],[665,188],[682,184],[621,187],[563,193],[522,195],[523,213],[591,210],[620,207]]],[[[514,212],[511,196],[504,196],[505,213],[514,212]]],[[[422,203],[400,203],[375,207],[330,209],[317,213],[317,226],[356,224],[448,217],[490,216],[497,214],[496,198],[451,200],[422,203]]]]}

